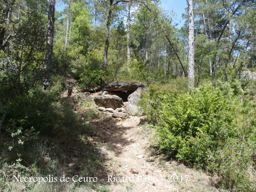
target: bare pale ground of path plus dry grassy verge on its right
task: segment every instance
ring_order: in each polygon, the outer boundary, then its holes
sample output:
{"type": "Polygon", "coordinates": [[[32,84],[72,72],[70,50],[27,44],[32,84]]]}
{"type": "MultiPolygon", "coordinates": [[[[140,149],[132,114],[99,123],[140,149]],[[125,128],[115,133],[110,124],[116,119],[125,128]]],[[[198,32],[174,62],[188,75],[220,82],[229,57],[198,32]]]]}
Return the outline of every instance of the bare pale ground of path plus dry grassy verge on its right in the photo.
{"type": "Polygon", "coordinates": [[[94,134],[89,141],[106,157],[108,170],[98,177],[111,192],[218,191],[212,185],[213,178],[204,172],[160,156],[153,147],[153,128],[140,124],[140,117],[122,121],[107,117],[91,124],[94,134]]]}

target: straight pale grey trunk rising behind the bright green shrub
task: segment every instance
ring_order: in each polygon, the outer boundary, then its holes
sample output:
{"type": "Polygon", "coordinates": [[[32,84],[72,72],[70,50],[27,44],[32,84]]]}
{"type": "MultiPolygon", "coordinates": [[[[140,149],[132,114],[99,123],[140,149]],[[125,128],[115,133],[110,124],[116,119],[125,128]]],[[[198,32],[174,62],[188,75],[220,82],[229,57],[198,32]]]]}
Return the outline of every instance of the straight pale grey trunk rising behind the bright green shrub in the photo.
{"type": "Polygon", "coordinates": [[[188,0],[188,78],[189,86],[194,88],[194,13],[193,0],[188,0]]]}

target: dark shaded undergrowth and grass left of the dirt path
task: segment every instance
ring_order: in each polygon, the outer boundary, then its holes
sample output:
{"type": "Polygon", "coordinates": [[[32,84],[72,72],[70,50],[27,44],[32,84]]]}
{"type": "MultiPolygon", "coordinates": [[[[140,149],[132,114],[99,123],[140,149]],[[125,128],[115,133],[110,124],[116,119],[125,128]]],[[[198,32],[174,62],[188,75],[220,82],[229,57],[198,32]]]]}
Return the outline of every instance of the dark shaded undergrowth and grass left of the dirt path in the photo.
{"type": "Polygon", "coordinates": [[[0,136],[0,191],[102,191],[94,182],[60,182],[60,178],[107,174],[106,158],[88,141],[95,116],[90,100],[61,98],[62,79],[46,92],[31,89],[12,102],[0,136]],[[56,182],[17,182],[14,178],[56,177],[56,182]]]}

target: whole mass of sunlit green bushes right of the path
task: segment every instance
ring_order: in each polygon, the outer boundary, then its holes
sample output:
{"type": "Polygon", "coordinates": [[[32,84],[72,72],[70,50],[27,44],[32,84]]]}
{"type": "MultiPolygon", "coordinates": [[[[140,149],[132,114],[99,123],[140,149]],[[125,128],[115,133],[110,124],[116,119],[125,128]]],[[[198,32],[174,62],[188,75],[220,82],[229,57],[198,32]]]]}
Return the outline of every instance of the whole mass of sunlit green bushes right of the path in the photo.
{"type": "Polygon", "coordinates": [[[171,87],[150,86],[140,101],[156,125],[162,153],[218,173],[226,189],[253,191],[249,168],[256,152],[255,114],[246,110],[253,109],[251,102],[241,102],[239,82],[220,89],[205,84],[194,92],[171,87]]]}

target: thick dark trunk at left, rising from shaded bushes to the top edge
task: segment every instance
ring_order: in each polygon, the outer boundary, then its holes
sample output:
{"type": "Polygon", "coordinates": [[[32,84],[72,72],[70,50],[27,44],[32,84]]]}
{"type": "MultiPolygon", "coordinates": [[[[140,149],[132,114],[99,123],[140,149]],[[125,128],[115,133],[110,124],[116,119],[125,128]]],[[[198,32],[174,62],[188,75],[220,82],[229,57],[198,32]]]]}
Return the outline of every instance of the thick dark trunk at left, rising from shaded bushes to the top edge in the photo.
{"type": "Polygon", "coordinates": [[[52,66],[53,34],[54,34],[54,12],[55,0],[49,1],[48,30],[46,38],[46,55],[44,61],[44,77],[42,80],[43,90],[46,90],[50,83],[50,69],[52,66]]]}

